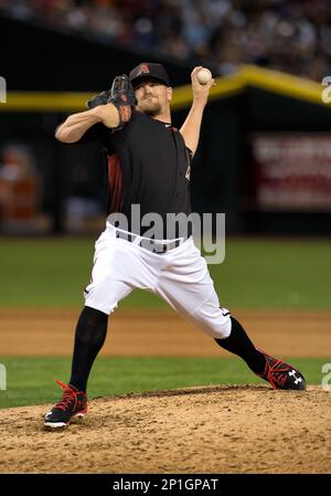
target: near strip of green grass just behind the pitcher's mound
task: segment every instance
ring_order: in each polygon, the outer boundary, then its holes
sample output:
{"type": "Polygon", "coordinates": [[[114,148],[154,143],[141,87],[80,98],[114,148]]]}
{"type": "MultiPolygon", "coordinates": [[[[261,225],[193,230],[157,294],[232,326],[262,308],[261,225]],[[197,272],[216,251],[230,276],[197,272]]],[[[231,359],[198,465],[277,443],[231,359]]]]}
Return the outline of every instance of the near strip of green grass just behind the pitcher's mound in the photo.
{"type": "MultiPolygon", "coordinates": [[[[289,358],[308,383],[321,383],[321,368],[331,358],[289,358]]],[[[0,390],[0,408],[53,403],[60,398],[54,378],[66,382],[71,359],[61,357],[0,357],[7,368],[7,390],[0,390]]],[[[233,357],[222,358],[120,358],[99,357],[94,365],[88,397],[111,397],[207,384],[265,383],[246,365],[233,357]]]]}

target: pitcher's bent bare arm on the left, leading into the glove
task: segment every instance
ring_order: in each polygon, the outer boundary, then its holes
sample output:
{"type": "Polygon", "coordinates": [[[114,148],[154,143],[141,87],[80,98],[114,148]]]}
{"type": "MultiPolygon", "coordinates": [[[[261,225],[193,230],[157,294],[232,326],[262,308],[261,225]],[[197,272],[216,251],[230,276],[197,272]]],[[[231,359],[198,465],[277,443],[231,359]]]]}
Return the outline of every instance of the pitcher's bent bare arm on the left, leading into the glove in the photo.
{"type": "Polygon", "coordinates": [[[89,110],[70,115],[57,127],[55,138],[63,143],[76,143],[97,123],[102,123],[109,128],[116,128],[119,125],[119,115],[115,105],[111,103],[98,105],[89,110]]]}

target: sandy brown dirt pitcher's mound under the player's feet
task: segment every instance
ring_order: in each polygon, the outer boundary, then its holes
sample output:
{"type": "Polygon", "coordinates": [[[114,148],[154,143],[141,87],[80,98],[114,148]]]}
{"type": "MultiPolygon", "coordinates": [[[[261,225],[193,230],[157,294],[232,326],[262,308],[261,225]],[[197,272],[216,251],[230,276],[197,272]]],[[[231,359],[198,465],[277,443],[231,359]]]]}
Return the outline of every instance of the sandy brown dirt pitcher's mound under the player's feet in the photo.
{"type": "Polygon", "coordinates": [[[49,405],[0,411],[1,473],[331,473],[331,393],[215,386],[98,398],[46,431],[49,405]]]}

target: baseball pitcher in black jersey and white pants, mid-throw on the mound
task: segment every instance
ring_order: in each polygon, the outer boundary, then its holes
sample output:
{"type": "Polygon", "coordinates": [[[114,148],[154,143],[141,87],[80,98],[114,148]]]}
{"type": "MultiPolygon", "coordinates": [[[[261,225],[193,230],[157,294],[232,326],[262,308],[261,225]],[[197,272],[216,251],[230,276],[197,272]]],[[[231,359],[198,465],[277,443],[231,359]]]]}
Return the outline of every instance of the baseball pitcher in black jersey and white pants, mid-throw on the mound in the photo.
{"type": "Polygon", "coordinates": [[[95,140],[107,158],[108,217],[95,244],[90,283],[78,318],[67,384],[45,415],[47,428],[64,428],[87,413],[86,387],[106,338],[108,316],[135,288],[160,295],[222,348],[241,357],[275,389],[306,389],[295,367],[257,349],[242,325],[220,305],[192,228],[169,235],[167,214],[191,213],[191,161],[214,80],[200,83],[194,67],[193,102],[180,129],[171,124],[172,88],[161,64],[141,63],[115,77],[109,91],[67,117],[55,137],[65,144],[95,140]],[[153,217],[151,217],[153,215],[153,217]],[[143,219],[152,218],[158,231],[143,219]],[[161,225],[161,228],[160,228],[161,225]]]}

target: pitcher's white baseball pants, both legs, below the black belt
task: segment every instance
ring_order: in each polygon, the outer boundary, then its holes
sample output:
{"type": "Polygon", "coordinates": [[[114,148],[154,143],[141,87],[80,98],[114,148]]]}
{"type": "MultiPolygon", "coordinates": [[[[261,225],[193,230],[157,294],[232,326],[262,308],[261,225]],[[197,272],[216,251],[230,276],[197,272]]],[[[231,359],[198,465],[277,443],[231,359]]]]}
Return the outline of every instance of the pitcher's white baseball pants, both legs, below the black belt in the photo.
{"type": "Polygon", "coordinates": [[[158,254],[139,245],[143,238],[129,242],[116,238],[117,231],[121,230],[107,222],[95,243],[92,281],[84,291],[86,306],[109,315],[132,289],[147,289],[213,338],[229,336],[229,312],[220,307],[193,238],[158,254]]]}

